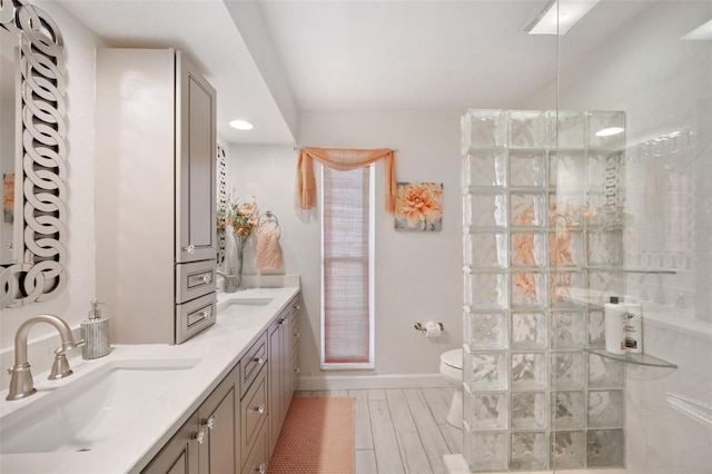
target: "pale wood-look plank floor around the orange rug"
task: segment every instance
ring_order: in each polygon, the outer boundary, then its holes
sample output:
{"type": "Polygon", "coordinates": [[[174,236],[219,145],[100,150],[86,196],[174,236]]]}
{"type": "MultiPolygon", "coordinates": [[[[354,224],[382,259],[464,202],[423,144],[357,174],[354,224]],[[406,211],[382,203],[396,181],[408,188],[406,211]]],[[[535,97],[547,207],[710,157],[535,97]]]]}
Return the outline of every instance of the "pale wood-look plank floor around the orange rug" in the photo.
{"type": "Polygon", "coordinates": [[[444,474],[443,455],[462,453],[462,431],[445,419],[453,388],[295,393],[310,395],[356,398],[356,474],[444,474]]]}

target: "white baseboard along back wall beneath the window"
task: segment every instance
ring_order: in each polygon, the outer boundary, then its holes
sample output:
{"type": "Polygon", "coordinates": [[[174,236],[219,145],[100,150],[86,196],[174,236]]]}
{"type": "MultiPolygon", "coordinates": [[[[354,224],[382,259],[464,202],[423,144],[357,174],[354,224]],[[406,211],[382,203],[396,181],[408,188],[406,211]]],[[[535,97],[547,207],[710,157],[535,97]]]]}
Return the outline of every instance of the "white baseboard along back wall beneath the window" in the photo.
{"type": "Polygon", "coordinates": [[[355,391],[367,388],[447,387],[439,374],[328,375],[299,377],[297,391],[355,391]]]}

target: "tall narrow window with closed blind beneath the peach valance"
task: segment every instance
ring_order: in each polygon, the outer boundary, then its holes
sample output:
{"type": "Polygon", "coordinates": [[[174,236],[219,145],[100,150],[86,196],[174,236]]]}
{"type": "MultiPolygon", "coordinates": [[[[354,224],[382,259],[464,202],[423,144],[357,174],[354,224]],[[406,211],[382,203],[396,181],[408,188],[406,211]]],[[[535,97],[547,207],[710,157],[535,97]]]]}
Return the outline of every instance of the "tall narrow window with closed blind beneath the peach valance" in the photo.
{"type": "Polygon", "coordinates": [[[373,169],[323,168],[322,368],[374,366],[373,169]]]}

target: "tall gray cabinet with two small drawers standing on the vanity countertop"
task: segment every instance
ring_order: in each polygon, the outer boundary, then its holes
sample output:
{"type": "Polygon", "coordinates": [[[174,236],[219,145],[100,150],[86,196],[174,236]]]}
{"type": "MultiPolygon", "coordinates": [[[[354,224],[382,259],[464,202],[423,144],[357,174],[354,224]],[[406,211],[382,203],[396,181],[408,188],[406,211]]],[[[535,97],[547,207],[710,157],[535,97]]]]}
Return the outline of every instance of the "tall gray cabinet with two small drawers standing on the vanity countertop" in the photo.
{"type": "Polygon", "coordinates": [[[111,343],[215,323],[216,91],[174,49],[97,51],[97,298],[111,343]]]}

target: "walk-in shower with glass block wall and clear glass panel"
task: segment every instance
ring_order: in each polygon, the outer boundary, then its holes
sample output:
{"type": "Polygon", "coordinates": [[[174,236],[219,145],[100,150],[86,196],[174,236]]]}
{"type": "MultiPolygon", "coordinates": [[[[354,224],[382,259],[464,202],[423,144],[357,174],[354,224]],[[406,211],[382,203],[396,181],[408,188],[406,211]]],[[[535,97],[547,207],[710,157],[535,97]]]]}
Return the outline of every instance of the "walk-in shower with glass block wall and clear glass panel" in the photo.
{"type": "Polygon", "coordinates": [[[532,39],[538,96],[462,120],[471,472],[712,472],[712,2],[595,8],[532,39]],[[595,8],[626,21],[574,58],[595,8]],[[642,353],[605,350],[612,296],[642,353]]]}

